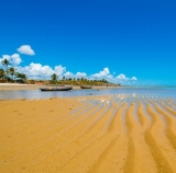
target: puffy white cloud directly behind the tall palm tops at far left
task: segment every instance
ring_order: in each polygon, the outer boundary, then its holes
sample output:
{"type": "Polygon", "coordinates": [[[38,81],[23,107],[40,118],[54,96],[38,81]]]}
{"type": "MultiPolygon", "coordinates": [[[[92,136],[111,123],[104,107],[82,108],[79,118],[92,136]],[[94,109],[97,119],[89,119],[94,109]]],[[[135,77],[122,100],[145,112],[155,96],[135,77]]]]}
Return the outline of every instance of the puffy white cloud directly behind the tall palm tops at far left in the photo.
{"type": "Polygon", "coordinates": [[[10,66],[19,66],[22,61],[21,57],[19,54],[13,54],[13,55],[2,55],[2,58],[0,58],[0,62],[4,59],[8,59],[10,62],[10,66]]]}

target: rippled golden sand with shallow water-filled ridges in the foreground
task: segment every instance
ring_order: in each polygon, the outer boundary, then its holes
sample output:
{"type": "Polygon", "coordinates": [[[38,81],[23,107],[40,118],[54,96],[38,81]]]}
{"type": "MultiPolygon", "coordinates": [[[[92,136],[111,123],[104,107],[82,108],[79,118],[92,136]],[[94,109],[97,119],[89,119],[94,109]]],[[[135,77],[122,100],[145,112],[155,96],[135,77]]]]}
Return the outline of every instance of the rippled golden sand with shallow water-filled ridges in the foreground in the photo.
{"type": "Polygon", "coordinates": [[[176,101],[0,101],[1,173],[176,173],[176,101]]]}

